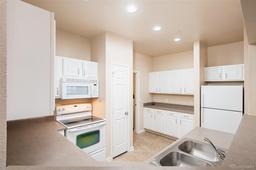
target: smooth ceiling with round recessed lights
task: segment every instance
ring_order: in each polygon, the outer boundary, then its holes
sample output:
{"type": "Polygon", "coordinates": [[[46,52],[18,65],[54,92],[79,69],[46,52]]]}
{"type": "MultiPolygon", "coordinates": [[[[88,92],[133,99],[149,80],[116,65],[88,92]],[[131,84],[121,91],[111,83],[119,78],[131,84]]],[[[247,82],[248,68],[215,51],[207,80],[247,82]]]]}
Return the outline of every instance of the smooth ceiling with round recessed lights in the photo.
{"type": "Polygon", "coordinates": [[[240,0],[24,0],[54,12],[56,28],[92,38],[110,32],[134,42],[134,52],[158,57],[193,49],[195,41],[243,41],[240,0]],[[138,6],[128,14],[126,6],[138,6]],[[162,26],[161,31],[153,31],[162,26]],[[180,29],[182,41],[174,42],[180,29]]]}

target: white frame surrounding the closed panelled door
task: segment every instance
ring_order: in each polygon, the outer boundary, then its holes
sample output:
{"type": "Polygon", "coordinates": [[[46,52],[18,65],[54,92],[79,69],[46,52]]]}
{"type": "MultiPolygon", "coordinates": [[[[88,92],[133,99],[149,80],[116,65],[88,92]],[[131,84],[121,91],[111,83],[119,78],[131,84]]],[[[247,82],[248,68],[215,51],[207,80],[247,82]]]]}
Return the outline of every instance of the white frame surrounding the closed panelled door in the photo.
{"type": "MultiPolygon", "coordinates": [[[[123,63],[116,63],[116,62],[111,62],[111,72],[110,72],[110,156],[111,160],[113,160],[113,65],[118,65],[122,67],[127,67],[127,72],[128,72],[128,94],[130,95],[130,65],[128,64],[123,64],[123,63]]],[[[128,113],[131,116],[130,113],[130,100],[131,97],[128,96],[128,113]]],[[[130,116],[128,116],[127,119],[127,152],[131,151],[130,148],[130,116]]],[[[133,147],[132,147],[133,148],[133,147]]]]}

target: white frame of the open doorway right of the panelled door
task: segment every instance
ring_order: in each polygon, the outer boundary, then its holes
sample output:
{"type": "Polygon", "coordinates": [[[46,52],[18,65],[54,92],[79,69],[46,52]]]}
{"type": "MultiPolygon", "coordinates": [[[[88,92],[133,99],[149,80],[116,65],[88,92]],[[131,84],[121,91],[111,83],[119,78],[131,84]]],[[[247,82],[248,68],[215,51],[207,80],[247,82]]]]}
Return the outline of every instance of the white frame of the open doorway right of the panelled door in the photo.
{"type": "Polygon", "coordinates": [[[135,73],[135,132],[140,133],[140,71],[134,70],[135,73]]]}

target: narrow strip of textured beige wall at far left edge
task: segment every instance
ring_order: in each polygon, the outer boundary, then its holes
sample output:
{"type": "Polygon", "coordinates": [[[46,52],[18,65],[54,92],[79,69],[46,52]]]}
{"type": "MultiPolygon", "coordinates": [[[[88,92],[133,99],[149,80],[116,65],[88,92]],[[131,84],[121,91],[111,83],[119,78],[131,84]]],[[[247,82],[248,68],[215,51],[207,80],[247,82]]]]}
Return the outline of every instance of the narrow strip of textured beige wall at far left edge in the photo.
{"type": "Polygon", "coordinates": [[[6,57],[7,57],[7,6],[0,0],[0,169],[6,168],[6,57]]]}

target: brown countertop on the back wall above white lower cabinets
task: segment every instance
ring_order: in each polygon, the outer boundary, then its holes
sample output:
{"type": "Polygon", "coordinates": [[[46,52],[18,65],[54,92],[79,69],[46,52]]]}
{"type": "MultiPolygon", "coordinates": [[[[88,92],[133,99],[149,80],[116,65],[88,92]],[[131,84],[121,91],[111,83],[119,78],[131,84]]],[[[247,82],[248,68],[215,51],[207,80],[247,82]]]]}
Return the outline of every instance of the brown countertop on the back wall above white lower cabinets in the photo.
{"type": "Polygon", "coordinates": [[[151,102],[151,103],[144,103],[143,107],[194,114],[194,106],[187,106],[187,105],[175,105],[175,104],[169,104],[169,103],[151,102]]]}

